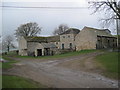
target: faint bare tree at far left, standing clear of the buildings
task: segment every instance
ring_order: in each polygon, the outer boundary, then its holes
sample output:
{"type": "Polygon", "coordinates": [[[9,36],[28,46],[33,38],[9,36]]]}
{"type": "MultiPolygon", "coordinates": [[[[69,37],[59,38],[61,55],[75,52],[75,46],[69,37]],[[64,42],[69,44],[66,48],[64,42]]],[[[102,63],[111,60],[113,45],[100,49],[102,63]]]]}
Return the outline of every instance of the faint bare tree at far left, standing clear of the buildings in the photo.
{"type": "Polygon", "coordinates": [[[14,44],[13,44],[13,37],[11,35],[6,36],[3,40],[2,40],[2,49],[4,51],[7,50],[7,52],[10,51],[10,48],[15,48],[14,44]]]}

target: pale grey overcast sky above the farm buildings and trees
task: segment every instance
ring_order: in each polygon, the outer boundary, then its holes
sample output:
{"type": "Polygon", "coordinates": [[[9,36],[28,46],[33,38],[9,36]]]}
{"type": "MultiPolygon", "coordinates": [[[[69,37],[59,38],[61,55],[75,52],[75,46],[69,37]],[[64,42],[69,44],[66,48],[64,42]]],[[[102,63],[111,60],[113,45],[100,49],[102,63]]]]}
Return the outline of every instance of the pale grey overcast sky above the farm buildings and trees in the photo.
{"type": "Polygon", "coordinates": [[[54,29],[60,24],[67,24],[69,27],[80,30],[84,26],[103,28],[99,22],[103,14],[91,15],[93,10],[87,8],[86,1],[88,0],[39,0],[39,2],[38,0],[11,0],[11,2],[4,0],[3,6],[73,8],[0,8],[3,36],[15,33],[17,27],[28,22],[37,22],[42,27],[41,35],[43,36],[52,35],[54,29]]]}

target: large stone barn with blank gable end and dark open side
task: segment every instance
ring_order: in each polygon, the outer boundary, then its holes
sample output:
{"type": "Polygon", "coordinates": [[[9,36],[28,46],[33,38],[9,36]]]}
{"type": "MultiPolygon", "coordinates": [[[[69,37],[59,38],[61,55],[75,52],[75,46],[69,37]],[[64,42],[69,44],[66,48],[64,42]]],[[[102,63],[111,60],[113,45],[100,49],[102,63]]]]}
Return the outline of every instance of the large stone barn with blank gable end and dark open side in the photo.
{"type": "Polygon", "coordinates": [[[108,29],[84,27],[75,37],[76,50],[106,49],[117,46],[117,38],[108,29]]]}

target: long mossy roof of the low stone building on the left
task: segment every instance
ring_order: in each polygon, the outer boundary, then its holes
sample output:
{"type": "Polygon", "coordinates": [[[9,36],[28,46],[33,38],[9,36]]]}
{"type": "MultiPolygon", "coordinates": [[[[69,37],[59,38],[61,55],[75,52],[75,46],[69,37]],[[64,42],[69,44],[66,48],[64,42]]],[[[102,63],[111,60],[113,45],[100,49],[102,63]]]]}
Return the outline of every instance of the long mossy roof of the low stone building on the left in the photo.
{"type": "Polygon", "coordinates": [[[56,42],[60,41],[60,36],[50,36],[50,37],[35,37],[35,36],[29,36],[29,37],[24,37],[27,41],[31,42],[56,42]]]}

